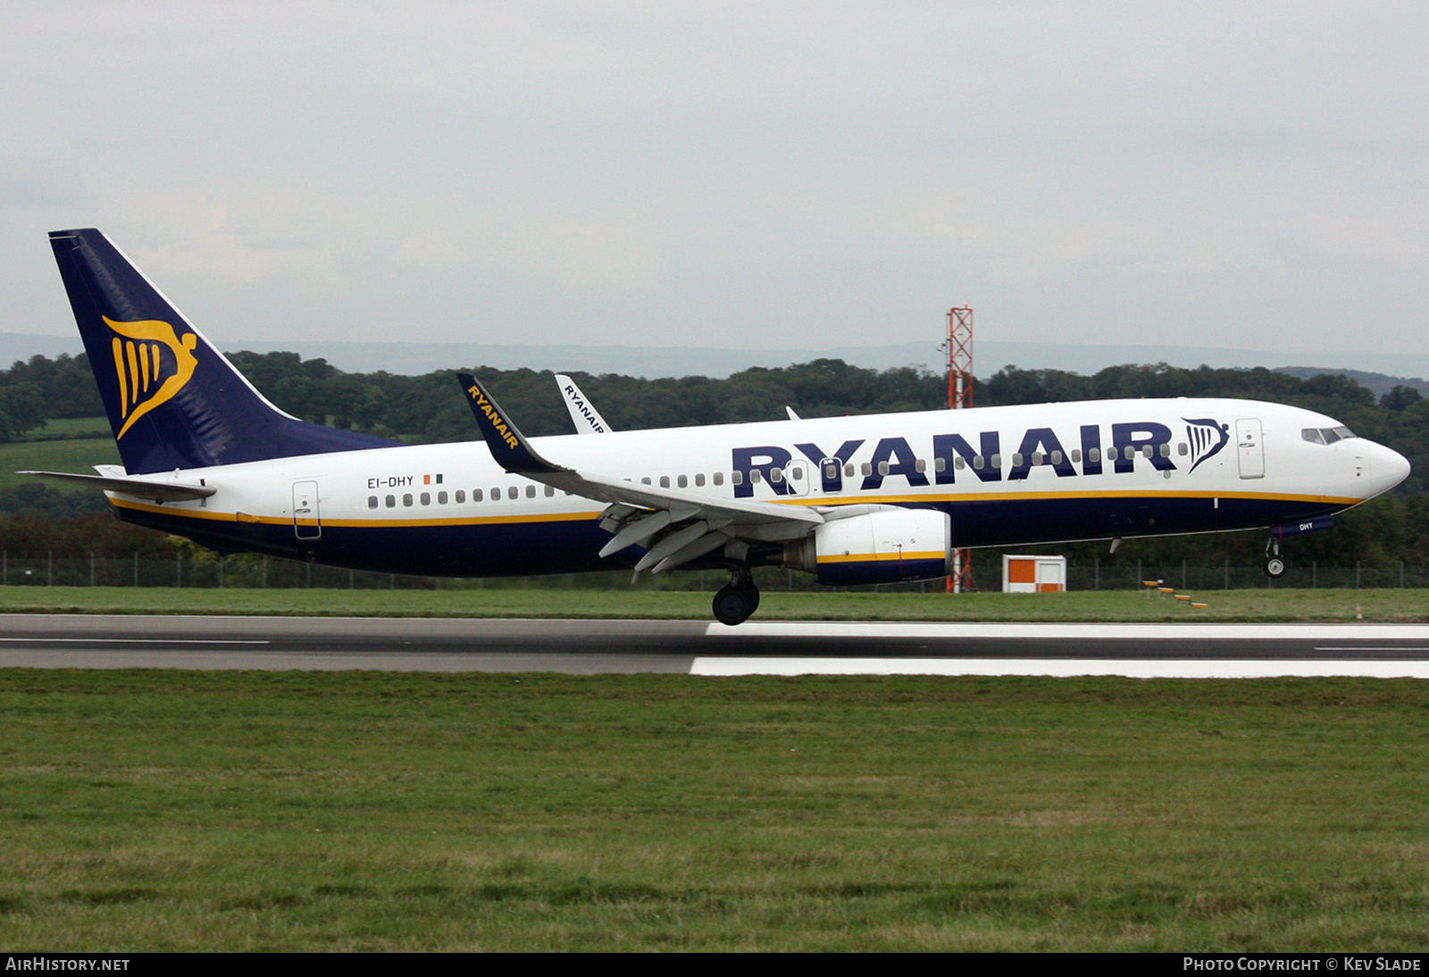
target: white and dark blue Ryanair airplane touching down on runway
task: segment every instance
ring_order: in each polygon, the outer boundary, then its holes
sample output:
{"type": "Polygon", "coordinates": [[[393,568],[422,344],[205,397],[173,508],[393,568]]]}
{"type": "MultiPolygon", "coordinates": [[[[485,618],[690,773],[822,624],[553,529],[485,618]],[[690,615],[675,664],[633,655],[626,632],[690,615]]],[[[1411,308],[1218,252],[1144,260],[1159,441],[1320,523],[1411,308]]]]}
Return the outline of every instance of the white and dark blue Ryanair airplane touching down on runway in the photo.
{"type": "Polygon", "coordinates": [[[220,551],[454,577],[725,568],[713,616],[739,624],[753,567],[895,583],[945,577],[962,547],[1268,528],[1279,576],[1282,538],[1409,474],[1325,414],[1229,399],[527,439],[470,374],[482,437],[409,446],[274,407],[99,230],[50,244],[123,464],[30,474],[220,551]]]}

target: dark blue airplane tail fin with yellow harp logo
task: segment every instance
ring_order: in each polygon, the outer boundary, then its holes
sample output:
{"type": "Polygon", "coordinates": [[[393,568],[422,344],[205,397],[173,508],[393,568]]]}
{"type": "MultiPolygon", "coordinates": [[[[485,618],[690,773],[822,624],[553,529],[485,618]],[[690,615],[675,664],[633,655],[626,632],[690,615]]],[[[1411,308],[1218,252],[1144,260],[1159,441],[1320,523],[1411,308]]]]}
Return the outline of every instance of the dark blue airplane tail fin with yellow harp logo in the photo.
{"type": "Polygon", "coordinates": [[[100,231],[50,247],[130,474],[396,444],[270,404],[100,231]]]}

